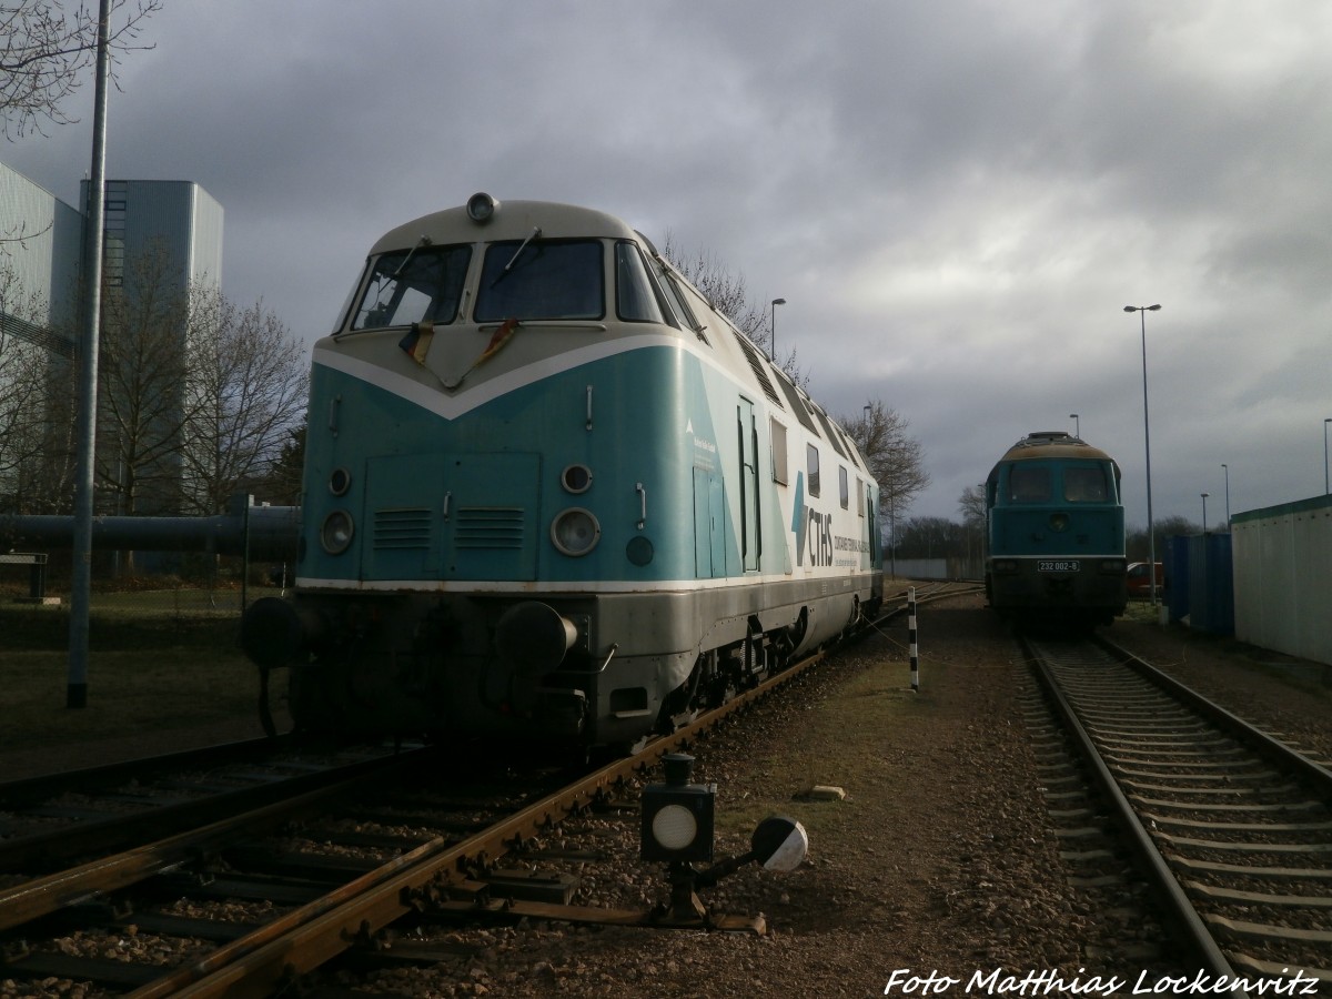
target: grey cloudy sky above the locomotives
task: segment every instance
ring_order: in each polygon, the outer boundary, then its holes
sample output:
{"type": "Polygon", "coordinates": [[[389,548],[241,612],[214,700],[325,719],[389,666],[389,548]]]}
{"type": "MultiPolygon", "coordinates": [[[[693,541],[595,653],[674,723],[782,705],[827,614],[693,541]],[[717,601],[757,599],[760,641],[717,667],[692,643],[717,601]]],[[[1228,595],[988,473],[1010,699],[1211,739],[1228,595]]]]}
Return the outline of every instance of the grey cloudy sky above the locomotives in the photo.
{"type": "MultiPolygon", "coordinates": [[[[932,485],[1031,430],[1115,456],[1130,523],[1324,492],[1327,0],[228,0],[119,67],[109,177],[224,206],[224,290],[300,338],[365,252],[476,190],[619,214],[785,297],[832,413],[880,400],[932,485]]],[[[65,201],[92,87],[0,159],[65,201]]]]}

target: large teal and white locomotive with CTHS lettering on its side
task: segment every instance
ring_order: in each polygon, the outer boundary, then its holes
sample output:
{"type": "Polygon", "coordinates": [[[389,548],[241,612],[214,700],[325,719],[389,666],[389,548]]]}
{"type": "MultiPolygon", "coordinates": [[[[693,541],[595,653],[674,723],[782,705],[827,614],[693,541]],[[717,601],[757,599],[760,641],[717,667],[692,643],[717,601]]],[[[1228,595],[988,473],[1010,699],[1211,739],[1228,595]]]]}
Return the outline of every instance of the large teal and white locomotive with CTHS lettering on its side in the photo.
{"type": "Polygon", "coordinates": [[[370,250],[314,346],[297,727],[627,745],[858,626],[851,438],[609,214],[476,194],[370,250]]]}

